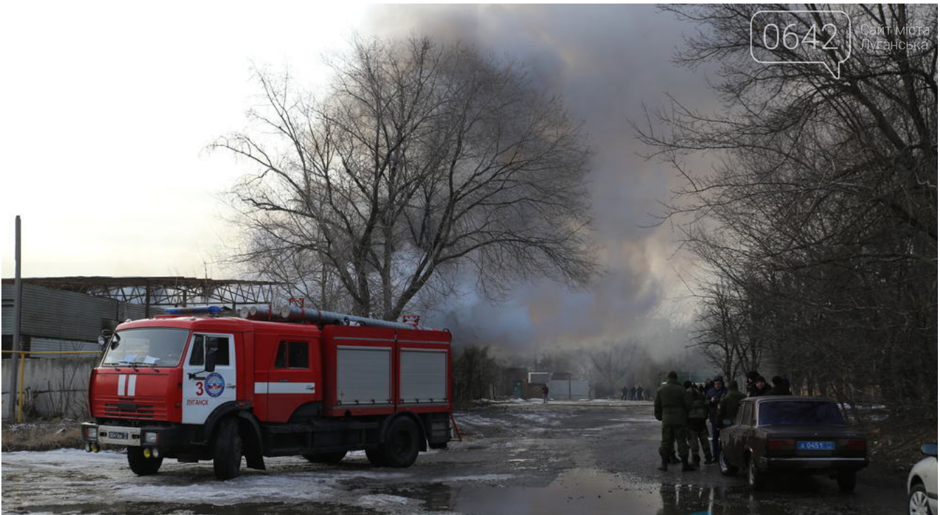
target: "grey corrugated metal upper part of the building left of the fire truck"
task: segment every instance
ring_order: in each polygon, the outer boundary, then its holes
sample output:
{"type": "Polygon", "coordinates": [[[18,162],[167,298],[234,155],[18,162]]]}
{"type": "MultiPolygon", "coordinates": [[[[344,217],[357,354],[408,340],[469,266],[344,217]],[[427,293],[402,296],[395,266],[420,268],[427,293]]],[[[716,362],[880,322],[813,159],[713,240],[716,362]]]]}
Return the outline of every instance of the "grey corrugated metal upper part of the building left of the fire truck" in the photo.
{"type": "MultiPolygon", "coordinates": [[[[13,333],[13,285],[2,288],[3,334],[13,333]]],[[[151,308],[151,314],[162,310],[151,308]]],[[[33,337],[97,341],[102,329],[116,322],[145,318],[141,304],[126,304],[115,299],[93,297],[60,289],[23,285],[23,322],[21,332],[33,337]]]]}

